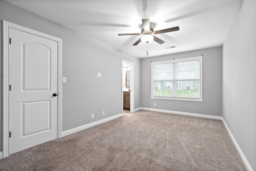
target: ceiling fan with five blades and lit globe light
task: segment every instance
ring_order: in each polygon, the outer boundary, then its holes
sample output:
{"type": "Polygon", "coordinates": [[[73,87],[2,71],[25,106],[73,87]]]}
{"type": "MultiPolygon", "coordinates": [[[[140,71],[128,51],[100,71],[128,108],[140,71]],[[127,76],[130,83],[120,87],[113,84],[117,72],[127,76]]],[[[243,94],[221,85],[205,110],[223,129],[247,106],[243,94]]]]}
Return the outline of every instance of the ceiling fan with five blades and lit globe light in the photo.
{"type": "Polygon", "coordinates": [[[174,31],[180,30],[180,28],[177,26],[177,27],[154,31],[154,29],[150,27],[150,21],[148,19],[142,19],[142,25],[143,25],[143,28],[141,30],[141,33],[118,34],[118,36],[142,35],[142,37],[139,40],[137,40],[137,42],[135,42],[132,46],[136,46],[141,41],[148,44],[152,42],[152,40],[158,42],[159,44],[163,44],[164,41],[154,36],[154,34],[161,34],[161,33],[174,32],[174,31]]]}

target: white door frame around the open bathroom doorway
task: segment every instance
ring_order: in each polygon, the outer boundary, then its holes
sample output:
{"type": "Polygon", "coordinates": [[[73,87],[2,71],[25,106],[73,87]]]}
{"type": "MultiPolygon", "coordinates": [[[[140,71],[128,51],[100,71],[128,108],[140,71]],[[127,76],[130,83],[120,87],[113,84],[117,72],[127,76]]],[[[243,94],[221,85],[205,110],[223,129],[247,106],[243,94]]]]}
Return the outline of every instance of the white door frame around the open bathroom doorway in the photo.
{"type": "Polygon", "coordinates": [[[123,64],[129,64],[131,66],[131,76],[132,76],[132,84],[131,84],[131,92],[130,92],[130,112],[134,112],[134,63],[128,62],[125,60],[122,60],[122,115],[123,113],[123,108],[124,108],[124,85],[123,85],[123,80],[124,80],[124,70],[123,70],[123,64]]]}

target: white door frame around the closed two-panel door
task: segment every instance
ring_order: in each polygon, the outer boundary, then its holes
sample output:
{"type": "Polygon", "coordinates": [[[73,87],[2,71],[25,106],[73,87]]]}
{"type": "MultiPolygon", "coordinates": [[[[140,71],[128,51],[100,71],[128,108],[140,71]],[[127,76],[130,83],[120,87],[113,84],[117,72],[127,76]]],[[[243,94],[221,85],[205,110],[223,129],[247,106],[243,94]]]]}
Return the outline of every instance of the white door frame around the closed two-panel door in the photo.
{"type": "Polygon", "coordinates": [[[10,155],[10,29],[14,28],[58,42],[58,138],[62,132],[62,39],[3,20],[3,157],[10,155]]]}

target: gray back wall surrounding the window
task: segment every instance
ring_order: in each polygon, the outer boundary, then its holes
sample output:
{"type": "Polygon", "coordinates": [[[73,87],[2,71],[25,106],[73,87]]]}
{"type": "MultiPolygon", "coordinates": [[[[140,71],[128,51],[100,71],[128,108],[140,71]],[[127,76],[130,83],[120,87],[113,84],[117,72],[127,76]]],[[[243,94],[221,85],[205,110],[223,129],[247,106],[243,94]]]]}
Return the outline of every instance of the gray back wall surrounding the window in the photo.
{"type": "Polygon", "coordinates": [[[141,107],[205,115],[222,114],[222,47],[196,50],[141,60],[141,107]],[[190,58],[203,54],[203,101],[151,99],[151,62],[190,58]],[[154,106],[156,103],[156,106],[154,106]]]}

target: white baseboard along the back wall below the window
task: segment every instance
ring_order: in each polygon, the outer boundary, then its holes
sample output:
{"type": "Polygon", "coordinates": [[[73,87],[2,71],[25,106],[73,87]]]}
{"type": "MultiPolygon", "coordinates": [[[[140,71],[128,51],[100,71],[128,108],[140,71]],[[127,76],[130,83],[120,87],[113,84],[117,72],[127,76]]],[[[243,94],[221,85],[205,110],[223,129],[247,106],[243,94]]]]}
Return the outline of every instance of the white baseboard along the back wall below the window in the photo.
{"type": "Polygon", "coordinates": [[[218,119],[218,120],[222,120],[222,117],[221,117],[221,116],[203,115],[203,114],[188,113],[188,112],[183,112],[183,111],[172,111],[172,110],[164,110],[164,109],[153,109],[153,108],[147,108],[147,107],[139,107],[139,108],[136,109],[136,111],[138,111],[138,110],[159,111],[159,112],[164,112],[164,113],[173,113],[173,114],[178,114],[178,115],[187,115],[187,116],[204,117],[204,118],[209,118],[209,119],[218,119]]]}

